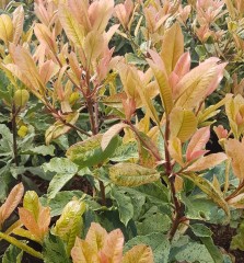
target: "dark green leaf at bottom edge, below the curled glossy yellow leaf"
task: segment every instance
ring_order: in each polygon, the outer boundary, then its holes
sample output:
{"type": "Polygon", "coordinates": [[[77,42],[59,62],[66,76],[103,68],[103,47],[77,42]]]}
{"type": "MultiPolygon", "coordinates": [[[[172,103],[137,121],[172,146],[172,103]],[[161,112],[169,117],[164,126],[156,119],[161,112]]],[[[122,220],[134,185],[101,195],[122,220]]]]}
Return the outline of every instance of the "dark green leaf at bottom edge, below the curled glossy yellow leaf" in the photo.
{"type": "Polygon", "coordinates": [[[70,263],[70,259],[66,253],[66,248],[62,240],[49,235],[46,237],[43,245],[43,255],[45,263],[70,263]]]}

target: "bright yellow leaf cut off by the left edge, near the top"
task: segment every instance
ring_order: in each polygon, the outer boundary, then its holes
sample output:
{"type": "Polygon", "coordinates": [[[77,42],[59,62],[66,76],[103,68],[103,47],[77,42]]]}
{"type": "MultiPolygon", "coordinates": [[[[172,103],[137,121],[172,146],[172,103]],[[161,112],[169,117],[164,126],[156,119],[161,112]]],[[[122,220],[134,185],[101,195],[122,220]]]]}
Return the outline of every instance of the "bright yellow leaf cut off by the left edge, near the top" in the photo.
{"type": "Polygon", "coordinates": [[[8,14],[0,15],[0,39],[8,46],[13,38],[13,23],[8,14]]]}

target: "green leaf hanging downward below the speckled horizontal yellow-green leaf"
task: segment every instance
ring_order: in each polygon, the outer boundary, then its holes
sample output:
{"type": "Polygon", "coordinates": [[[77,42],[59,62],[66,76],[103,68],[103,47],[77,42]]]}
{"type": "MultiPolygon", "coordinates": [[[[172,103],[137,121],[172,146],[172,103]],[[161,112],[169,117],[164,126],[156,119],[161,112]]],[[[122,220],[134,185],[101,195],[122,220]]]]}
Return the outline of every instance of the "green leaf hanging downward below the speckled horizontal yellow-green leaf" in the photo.
{"type": "Polygon", "coordinates": [[[119,218],[125,226],[133,217],[133,206],[129,196],[125,195],[125,191],[113,187],[112,196],[118,205],[119,218]]]}

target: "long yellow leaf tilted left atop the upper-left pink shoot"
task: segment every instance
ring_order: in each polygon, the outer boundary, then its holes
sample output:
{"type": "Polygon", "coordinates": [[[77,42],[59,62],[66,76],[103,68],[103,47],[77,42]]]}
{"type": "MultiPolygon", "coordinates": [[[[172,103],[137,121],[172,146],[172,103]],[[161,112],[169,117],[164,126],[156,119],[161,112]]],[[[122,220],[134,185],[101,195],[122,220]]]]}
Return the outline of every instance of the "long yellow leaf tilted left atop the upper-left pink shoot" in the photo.
{"type": "Polygon", "coordinates": [[[84,28],[78,23],[66,4],[59,4],[58,18],[68,36],[68,38],[77,46],[83,46],[84,28]]]}

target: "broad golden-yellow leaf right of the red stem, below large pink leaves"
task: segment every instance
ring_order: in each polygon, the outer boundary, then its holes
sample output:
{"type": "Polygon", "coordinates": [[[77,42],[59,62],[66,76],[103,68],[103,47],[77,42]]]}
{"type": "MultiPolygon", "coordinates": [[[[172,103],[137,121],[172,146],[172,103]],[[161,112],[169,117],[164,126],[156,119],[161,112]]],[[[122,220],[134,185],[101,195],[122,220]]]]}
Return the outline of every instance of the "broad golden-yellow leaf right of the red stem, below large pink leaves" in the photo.
{"type": "Polygon", "coordinates": [[[177,137],[182,142],[188,140],[197,129],[197,118],[191,111],[175,107],[170,115],[171,137],[177,137]]]}

